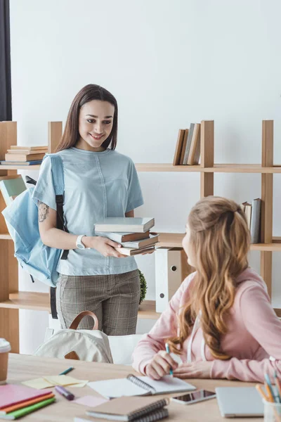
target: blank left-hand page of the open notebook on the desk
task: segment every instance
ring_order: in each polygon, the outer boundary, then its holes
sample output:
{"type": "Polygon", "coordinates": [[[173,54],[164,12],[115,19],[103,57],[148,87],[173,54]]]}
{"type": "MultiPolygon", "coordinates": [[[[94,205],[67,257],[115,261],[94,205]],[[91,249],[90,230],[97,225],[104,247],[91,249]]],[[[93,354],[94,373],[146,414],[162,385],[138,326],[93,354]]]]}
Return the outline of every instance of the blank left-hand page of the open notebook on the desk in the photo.
{"type": "Polygon", "coordinates": [[[138,387],[138,385],[131,383],[131,381],[127,380],[126,378],[117,378],[105,381],[92,381],[91,383],[88,383],[88,385],[105,398],[147,394],[147,391],[143,390],[141,387],[138,387]]]}

